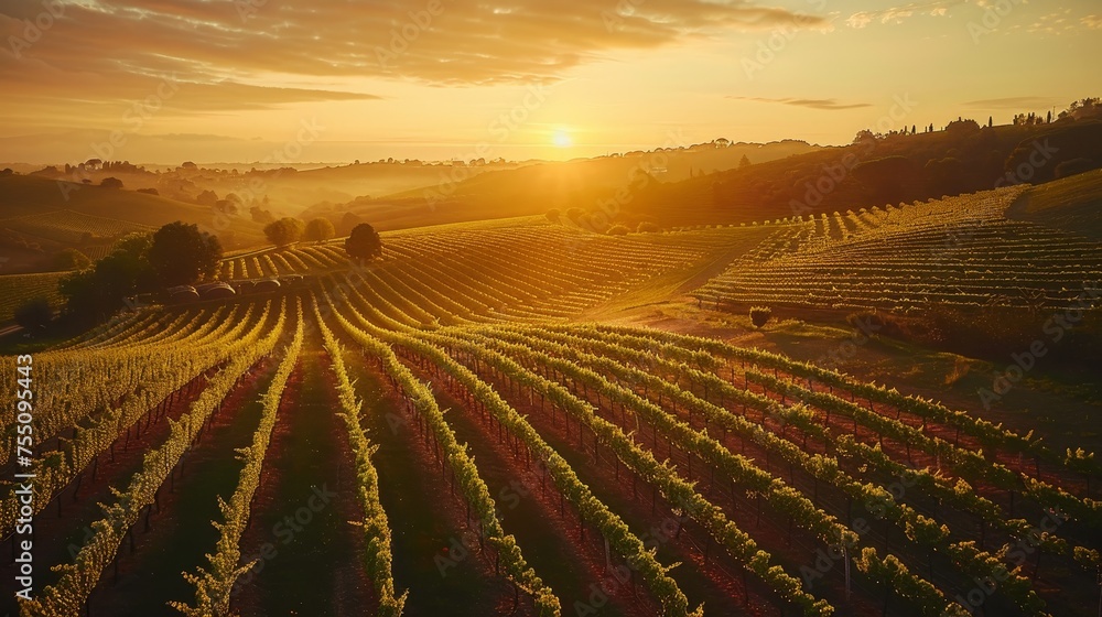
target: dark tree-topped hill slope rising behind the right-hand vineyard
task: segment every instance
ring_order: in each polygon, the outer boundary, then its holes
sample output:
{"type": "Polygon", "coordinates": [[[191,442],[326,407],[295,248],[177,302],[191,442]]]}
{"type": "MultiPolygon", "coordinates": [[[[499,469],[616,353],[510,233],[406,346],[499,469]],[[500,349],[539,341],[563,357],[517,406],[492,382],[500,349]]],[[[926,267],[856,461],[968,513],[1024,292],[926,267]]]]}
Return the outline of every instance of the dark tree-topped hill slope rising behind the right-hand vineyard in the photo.
{"type": "Polygon", "coordinates": [[[628,210],[666,225],[774,220],[1046,182],[1061,165],[1102,166],[1102,122],[953,122],[655,185],[628,210]]]}

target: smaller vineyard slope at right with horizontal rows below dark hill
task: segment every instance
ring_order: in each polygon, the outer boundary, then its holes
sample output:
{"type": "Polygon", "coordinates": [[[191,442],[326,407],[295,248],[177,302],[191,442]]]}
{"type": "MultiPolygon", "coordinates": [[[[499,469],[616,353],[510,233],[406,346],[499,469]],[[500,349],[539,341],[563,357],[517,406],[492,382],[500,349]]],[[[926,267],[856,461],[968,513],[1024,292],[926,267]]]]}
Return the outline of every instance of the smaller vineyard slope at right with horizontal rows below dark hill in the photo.
{"type": "Polygon", "coordinates": [[[777,226],[696,292],[726,305],[1066,308],[1102,281],[1102,245],[1013,220],[1022,187],[777,226]]]}

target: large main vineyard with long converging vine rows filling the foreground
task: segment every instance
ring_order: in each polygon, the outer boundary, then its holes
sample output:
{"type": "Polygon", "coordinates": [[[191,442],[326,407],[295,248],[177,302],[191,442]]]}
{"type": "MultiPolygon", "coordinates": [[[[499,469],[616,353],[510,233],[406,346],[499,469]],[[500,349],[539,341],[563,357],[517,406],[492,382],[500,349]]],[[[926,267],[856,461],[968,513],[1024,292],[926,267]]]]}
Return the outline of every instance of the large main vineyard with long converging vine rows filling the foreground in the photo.
{"type": "Polygon", "coordinates": [[[450,226],[387,235],[357,268],[329,245],[237,256],[227,278],[306,284],[152,307],[34,355],[41,587],[0,609],[1093,614],[1092,453],[785,356],[587,321],[748,250],[938,237],[932,209],[628,237],[450,226]]]}

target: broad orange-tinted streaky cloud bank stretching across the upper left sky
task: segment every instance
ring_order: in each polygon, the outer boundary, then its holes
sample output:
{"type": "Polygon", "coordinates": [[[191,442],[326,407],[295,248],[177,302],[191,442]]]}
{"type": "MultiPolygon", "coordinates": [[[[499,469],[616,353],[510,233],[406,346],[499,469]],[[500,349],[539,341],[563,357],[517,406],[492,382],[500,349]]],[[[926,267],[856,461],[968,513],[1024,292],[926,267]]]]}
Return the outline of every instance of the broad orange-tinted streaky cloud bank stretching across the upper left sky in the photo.
{"type": "MultiPolygon", "coordinates": [[[[0,41],[19,36],[41,10],[8,4],[0,6],[0,41]]],[[[64,11],[22,55],[112,80],[174,69],[207,84],[258,76],[548,82],[616,51],[731,30],[829,26],[825,18],[750,0],[112,0],[65,3],[64,11]]],[[[11,62],[0,53],[0,63],[11,62]]]]}

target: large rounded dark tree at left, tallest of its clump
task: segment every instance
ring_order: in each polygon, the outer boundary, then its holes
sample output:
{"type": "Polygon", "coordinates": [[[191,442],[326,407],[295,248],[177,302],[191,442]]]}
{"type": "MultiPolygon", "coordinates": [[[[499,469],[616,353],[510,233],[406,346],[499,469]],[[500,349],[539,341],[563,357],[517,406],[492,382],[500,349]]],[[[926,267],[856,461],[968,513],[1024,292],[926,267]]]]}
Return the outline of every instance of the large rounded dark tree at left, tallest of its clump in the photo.
{"type": "Polygon", "coordinates": [[[222,259],[218,238],[198,226],[170,223],[153,234],[148,259],[162,285],[187,285],[214,274],[222,259]]]}

